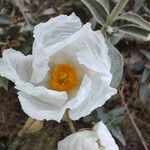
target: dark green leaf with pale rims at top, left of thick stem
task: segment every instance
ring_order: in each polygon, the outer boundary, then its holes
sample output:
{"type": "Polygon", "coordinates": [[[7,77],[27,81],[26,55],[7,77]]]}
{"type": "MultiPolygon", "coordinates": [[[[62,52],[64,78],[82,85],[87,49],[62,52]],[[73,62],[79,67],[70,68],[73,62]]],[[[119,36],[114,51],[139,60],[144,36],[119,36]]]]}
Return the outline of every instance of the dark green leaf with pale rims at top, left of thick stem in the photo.
{"type": "Polygon", "coordinates": [[[109,14],[109,3],[107,0],[81,0],[91,11],[96,21],[104,25],[109,14]]]}

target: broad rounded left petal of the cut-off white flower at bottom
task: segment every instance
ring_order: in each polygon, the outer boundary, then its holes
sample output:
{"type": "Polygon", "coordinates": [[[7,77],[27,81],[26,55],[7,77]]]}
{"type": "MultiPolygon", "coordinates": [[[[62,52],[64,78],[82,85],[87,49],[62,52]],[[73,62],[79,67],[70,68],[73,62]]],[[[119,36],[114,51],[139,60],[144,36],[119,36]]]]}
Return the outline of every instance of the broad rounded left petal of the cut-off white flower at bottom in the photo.
{"type": "Polygon", "coordinates": [[[99,150],[94,131],[82,131],[58,142],[58,150],[99,150]]]}

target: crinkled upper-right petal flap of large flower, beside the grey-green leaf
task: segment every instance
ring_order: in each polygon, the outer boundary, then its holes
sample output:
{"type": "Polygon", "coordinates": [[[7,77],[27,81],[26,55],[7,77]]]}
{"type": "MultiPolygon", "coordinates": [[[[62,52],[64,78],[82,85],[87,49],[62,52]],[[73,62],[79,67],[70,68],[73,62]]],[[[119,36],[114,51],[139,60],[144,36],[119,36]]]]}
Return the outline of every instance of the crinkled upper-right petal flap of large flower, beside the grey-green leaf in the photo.
{"type": "Polygon", "coordinates": [[[83,44],[84,49],[77,53],[79,64],[83,64],[87,68],[99,72],[102,80],[110,84],[112,79],[110,73],[111,60],[101,32],[89,31],[83,44]]]}

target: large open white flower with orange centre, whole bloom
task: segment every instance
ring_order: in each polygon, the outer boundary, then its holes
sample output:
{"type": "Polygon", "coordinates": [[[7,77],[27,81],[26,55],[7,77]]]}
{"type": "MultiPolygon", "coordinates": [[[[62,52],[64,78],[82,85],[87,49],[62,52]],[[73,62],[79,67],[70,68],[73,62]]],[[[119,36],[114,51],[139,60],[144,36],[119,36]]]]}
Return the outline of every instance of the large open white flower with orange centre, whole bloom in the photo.
{"type": "Polygon", "coordinates": [[[15,83],[30,117],[60,121],[69,109],[77,120],[116,94],[105,39],[89,23],[60,15],[36,25],[34,38],[32,55],[7,49],[0,59],[0,75],[15,83]]]}

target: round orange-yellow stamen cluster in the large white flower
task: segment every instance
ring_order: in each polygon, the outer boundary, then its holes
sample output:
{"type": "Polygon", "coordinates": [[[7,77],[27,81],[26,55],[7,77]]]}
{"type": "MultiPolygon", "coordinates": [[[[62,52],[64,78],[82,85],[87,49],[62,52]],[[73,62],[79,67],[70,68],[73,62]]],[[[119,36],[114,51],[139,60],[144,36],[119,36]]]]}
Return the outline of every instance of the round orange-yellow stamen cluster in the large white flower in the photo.
{"type": "Polygon", "coordinates": [[[57,64],[50,76],[49,85],[56,91],[70,91],[77,85],[75,68],[69,64],[57,64]]]}

